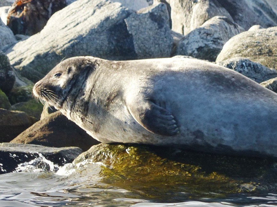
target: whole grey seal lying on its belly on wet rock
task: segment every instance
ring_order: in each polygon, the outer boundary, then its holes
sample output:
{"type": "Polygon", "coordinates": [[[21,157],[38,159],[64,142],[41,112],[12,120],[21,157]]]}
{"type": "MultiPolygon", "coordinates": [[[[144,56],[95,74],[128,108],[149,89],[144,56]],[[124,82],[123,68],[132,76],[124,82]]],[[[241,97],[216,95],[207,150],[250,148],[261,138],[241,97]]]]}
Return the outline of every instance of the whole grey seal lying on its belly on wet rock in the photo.
{"type": "Polygon", "coordinates": [[[277,157],[277,94],[207,61],[73,57],[33,93],[103,143],[277,157]]]}

